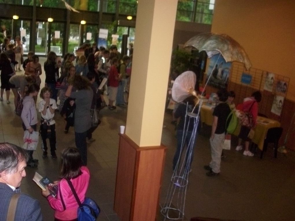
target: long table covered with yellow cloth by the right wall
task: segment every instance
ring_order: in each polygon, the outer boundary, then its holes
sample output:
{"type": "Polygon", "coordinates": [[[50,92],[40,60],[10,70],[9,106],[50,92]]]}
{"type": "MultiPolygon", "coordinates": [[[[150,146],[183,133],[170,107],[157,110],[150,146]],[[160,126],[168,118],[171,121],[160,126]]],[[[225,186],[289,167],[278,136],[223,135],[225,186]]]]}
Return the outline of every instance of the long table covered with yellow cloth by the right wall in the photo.
{"type": "MultiPolygon", "coordinates": [[[[203,104],[201,106],[200,115],[201,115],[202,124],[205,123],[209,126],[212,126],[213,110],[214,110],[214,108],[210,105],[203,104]]],[[[258,148],[260,150],[262,150],[263,144],[264,144],[264,139],[266,137],[268,129],[273,128],[273,127],[280,127],[280,126],[281,126],[281,123],[276,120],[257,116],[257,124],[254,128],[255,133],[254,133],[254,137],[252,139],[252,142],[254,144],[257,144],[258,148]]],[[[235,132],[233,133],[235,136],[239,135],[240,128],[241,128],[241,126],[239,124],[237,126],[235,132]]]]}

